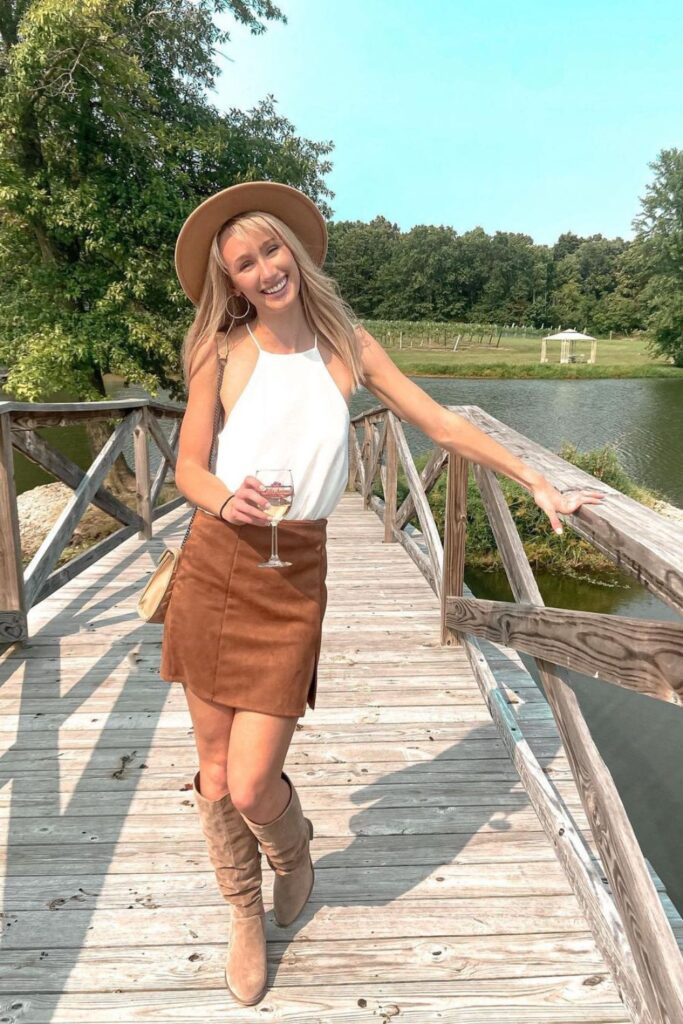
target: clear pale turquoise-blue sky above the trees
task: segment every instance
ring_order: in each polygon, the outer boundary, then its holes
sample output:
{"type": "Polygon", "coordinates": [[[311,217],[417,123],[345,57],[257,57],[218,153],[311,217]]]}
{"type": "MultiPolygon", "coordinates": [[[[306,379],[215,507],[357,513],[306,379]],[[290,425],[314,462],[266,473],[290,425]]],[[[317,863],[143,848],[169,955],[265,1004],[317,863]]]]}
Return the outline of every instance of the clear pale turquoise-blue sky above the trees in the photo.
{"type": "Polygon", "coordinates": [[[281,0],[232,18],[220,110],[272,93],[332,140],[334,220],[633,237],[648,163],[683,145],[683,4],[281,0]],[[227,59],[229,57],[229,59],[227,59]]]}

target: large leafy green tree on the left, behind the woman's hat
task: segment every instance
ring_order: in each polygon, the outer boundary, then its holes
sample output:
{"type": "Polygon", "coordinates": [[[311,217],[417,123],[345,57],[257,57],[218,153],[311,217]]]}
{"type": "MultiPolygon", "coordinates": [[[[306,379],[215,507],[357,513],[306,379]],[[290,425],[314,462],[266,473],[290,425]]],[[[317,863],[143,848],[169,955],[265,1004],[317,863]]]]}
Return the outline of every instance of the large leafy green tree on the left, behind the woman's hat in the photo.
{"type": "MultiPolygon", "coordinates": [[[[207,99],[229,12],[253,34],[270,0],[33,0],[0,6],[0,362],[8,390],[101,398],[114,373],[180,396],[191,305],[178,229],[207,196],[268,178],[331,196],[332,143],[298,138],[271,95],[207,99]]],[[[93,454],[109,428],[91,433],[93,454]]],[[[124,486],[123,459],[111,477],[124,486]]]]}

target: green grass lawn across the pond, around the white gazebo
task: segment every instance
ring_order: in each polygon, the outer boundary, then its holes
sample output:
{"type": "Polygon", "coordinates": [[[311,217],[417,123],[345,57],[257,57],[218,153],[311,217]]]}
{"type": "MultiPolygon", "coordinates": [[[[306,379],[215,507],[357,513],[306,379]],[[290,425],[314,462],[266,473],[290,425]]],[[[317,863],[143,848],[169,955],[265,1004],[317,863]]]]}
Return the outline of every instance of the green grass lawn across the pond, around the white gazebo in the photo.
{"type": "MultiPolygon", "coordinates": [[[[380,339],[378,339],[380,340],[380,339]]],[[[476,344],[462,341],[456,352],[451,347],[427,344],[421,348],[418,339],[410,347],[410,336],[403,335],[403,347],[386,349],[396,366],[413,376],[447,377],[666,377],[683,379],[683,368],[673,367],[664,357],[653,358],[646,341],[638,338],[598,339],[597,361],[560,364],[560,342],[548,342],[548,362],[540,362],[541,339],[501,338],[500,344],[476,344]]],[[[590,341],[577,342],[577,354],[588,358],[590,341]]]]}

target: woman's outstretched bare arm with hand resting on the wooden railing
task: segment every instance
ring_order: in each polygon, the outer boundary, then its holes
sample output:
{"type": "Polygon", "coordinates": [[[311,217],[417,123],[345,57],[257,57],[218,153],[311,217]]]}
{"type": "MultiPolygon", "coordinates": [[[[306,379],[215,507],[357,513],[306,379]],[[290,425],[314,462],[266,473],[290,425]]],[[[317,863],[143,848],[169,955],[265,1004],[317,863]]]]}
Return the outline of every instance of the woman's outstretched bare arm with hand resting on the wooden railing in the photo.
{"type": "Polygon", "coordinates": [[[562,524],[557,512],[567,515],[584,502],[594,504],[604,497],[601,492],[588,489],[574,490],[571,496],[562,495],[543,473],[527,466],[464,416],[444,409],[410,380],[365,328],[359,328],[357,333],[369,390],[392,413],[418,427],[441,447],[505,473],[525,487],[558,534],[562,531],[562,524]]]}

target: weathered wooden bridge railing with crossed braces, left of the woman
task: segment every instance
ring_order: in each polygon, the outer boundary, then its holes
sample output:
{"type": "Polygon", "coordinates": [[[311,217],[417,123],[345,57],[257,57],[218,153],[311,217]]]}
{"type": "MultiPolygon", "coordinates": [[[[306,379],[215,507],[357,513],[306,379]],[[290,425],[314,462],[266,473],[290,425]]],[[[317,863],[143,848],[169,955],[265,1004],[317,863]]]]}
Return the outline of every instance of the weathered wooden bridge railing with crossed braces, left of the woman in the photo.
{"type": "Polygon", "coordinates": [[[61,404],[0,402],[0,644],[24,642],[28,637],[27,613],[34,604],[48,597],[135,531],[139,538],[151,538],[153,520],[185,501],[180,497],[163,505],[156,504],[169,468],[175,469],[183,413],[182,406],[145,398],[61,404]],[[160,420],[169,418],[175,422],[167,439],[160,420]],[[120,423],[87,471],[53,449],[36,432],[40,427],[112,419],[119,419],[120,423]],[[135,454],[136,510],[120,501],[103,484],[131,436],[135,454]],[[150,474],[151,438],[161,453],[154,480],[150,474]],[[12,449],[74,490],[73,498],[62,509],[26,571],[22,559],[12,449]],[[61,552],[90,503],[121,522],[122,527],[55,569],[61,552]]]}

